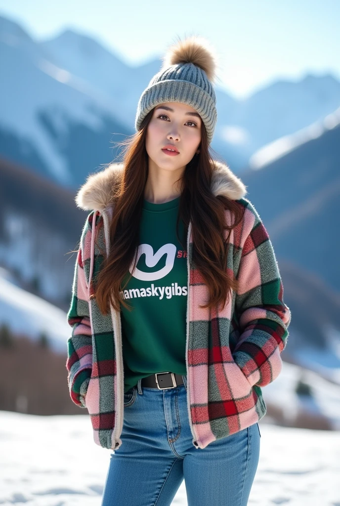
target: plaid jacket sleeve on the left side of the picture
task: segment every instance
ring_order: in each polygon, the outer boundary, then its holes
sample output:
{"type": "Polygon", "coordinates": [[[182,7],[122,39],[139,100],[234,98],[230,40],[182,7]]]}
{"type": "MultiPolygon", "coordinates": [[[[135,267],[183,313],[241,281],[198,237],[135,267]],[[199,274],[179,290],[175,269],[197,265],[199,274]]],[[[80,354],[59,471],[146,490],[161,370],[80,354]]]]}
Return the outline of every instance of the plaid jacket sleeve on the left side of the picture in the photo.
{"type": "Polygon", "coordinates": [[[67,313],[67,322],[72,327],[71,336],[67,341],[67,381],[71,399],[79,407],[86,407],[85,396],[92,372],[92,330],[82,254],[84,237],[89,231],[90,221],[91,214],[81,234],[74,268],[71,304],[67,313]]]}

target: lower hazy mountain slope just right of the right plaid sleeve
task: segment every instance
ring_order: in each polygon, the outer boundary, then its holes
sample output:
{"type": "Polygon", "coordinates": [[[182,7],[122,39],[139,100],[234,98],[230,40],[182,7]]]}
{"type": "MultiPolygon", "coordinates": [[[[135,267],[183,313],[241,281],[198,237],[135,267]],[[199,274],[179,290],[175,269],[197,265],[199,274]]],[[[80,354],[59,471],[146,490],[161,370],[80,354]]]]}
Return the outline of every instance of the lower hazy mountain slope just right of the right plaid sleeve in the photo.
{"type": "Polygon", "coordinates": [[[340,296],[320,276],[278,258],[284,300],[292,313],[282,358],[340,385],[340,296]],[[314,310],[315,308],[315,310],[314,310]]]}

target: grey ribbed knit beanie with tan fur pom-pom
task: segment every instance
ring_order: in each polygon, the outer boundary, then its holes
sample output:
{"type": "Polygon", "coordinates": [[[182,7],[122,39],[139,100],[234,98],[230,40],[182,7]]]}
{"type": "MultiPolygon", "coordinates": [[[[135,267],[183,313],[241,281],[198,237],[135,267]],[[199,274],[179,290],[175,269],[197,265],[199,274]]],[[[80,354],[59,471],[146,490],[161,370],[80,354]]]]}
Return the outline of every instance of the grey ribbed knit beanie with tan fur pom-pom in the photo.
{"type": "Polygon", "coordinates": [[[156,105],[182,102],[199,113],[210,144],[217,122],[216,95],[212,87],[217,68],[214,51],[204,38],[192,35],[171,46],[162,60],[162,68],[139,99],[136,131],[141,129],[143,119],[156,105]]]}

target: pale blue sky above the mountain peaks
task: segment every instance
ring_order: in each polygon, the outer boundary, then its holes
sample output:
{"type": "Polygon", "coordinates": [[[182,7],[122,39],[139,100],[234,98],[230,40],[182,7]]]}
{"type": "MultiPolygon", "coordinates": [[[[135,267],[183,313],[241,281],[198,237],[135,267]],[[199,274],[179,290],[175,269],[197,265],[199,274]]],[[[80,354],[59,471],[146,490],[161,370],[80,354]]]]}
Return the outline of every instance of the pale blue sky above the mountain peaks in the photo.
{"type": "Polygon", "coordinates": [[[219,57],[218,84],[238,98],[307,73],[340,80],[338,0],[0,0],[0,14],[35,39],[66,28],[93,36],[131,65],[162,56],[177,36],[202,35],[219,57]]]}

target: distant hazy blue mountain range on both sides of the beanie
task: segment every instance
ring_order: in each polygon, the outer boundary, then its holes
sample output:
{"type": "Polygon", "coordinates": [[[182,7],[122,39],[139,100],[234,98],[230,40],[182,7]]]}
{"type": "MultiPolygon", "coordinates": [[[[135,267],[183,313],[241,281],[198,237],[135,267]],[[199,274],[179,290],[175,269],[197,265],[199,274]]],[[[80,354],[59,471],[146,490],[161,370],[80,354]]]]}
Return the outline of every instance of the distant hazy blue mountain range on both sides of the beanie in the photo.
{"type": "MultiPolygon", "coordinates": [[[[0,155],[77,188],[115,158],[114,142],[135,132],[139,97],[161,63],[130,67],[99,41],[71,30],[37,42],[0,17],[0,155]]],[[[340,105],[340,83],[331,75],[275,82],[245,100],[220,87],[216,92],[211,147],[235,172],[265,144],[340,105]]]]}

